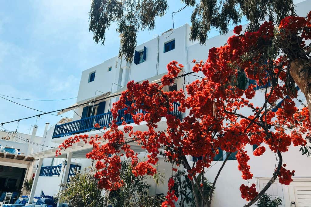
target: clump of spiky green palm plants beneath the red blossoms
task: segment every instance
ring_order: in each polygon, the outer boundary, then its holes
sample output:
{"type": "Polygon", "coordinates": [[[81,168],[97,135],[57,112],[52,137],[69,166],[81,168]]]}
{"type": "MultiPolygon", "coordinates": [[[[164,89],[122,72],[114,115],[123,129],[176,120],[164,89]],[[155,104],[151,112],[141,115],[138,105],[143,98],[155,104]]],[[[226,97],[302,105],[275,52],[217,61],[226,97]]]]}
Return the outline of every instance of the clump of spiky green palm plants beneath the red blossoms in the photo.
{"type": "MultiPolygon", "coordinates": [[[[147,176],[135,176],[132,173],[130,160],[121,162],[120,178],[124,186],[116,191],[111,191],[105,196],[98,188],[98,179],[94,178],[94,172],[77,173],[70,182],[62,184],[65,190],[58,192],[61,202],[69,201],[74,207],[160,207],[165,196],[149,196],[147,176]]],[[[158,185],[164,183],[164,175],[160,172],[152,176],[158,185]]]]}

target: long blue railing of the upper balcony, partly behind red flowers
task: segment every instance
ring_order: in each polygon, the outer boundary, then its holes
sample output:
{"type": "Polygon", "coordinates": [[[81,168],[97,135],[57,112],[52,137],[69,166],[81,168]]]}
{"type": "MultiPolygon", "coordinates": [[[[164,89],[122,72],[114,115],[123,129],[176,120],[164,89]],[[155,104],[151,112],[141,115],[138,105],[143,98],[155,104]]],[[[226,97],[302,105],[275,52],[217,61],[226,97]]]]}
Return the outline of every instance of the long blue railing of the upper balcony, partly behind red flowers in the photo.
{"type": "MultiPolygon", "coordinates": [[[[178,110],[180,104],[174,102],[173,106],[174,109],[173,111],[170,112],[170,114],[175,115],[176,117],[179,117],[181,119],[182,113],[178,110]]],[[[127,123],[133,123],[132,115],[124,114],[124,111],[126,109],[127,108],[119,110],[117,117],[118,125],[121,125],[123,121],[127,123]],[[121,119],[122,117],[123,119],[121,119]]],[[[98,128],[94,127],[96,123],[98,123],[101,127],[108,127],[109,124],[111,124],[111,121],[112,121],[112,114],[111,111],[109,111],[104,114],[79,119],[65,124],[55,125],[52,139],[64,136],[71,136],[73,134],[90,132],[95,129],[97,130],[98,128]]]]}

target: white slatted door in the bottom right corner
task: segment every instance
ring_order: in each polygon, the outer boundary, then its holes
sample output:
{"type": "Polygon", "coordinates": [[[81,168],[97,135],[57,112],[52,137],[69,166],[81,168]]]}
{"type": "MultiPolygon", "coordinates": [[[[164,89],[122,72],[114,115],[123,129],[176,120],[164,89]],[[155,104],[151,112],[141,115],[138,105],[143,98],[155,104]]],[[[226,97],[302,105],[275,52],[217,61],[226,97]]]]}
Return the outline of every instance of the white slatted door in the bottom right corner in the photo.
{"type": "Polygon", "coordinates": [[[291,182],[288,190],[291,206],[311,207],[311,182],[291,182]]]}

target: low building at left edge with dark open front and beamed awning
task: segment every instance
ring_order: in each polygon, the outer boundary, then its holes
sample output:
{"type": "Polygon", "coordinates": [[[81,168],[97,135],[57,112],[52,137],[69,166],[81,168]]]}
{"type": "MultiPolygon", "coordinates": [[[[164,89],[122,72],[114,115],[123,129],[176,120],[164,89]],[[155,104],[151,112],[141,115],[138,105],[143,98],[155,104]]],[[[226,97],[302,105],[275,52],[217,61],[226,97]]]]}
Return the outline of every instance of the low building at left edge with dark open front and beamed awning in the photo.
{"type": "MultiPolygon", "coordinates": [[[[0,131],[0,193],[19,193],[25,179],[31,178],[35,173],[32,162],[34,158],[27,155],[42,151],[43,138],[36,136],[37,129],[38,126],[35,125],[31,135],[0,131]]],[[[47,126],[45,129],[47,130],[47,126]]]]}

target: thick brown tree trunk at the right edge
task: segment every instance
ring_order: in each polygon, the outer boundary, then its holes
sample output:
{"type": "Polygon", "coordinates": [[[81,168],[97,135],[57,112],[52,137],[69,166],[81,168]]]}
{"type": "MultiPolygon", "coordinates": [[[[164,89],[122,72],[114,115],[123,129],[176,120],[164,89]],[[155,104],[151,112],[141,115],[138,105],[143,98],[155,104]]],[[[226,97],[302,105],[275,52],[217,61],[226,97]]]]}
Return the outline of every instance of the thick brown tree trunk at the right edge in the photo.
{"type": "Polygon", "coordinates": [[[311,121],[311,63],[308,59],[297,58],[291,61],[290,75],[307,100],[311,121]]]}

